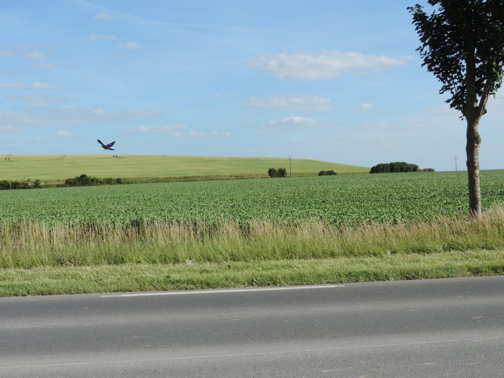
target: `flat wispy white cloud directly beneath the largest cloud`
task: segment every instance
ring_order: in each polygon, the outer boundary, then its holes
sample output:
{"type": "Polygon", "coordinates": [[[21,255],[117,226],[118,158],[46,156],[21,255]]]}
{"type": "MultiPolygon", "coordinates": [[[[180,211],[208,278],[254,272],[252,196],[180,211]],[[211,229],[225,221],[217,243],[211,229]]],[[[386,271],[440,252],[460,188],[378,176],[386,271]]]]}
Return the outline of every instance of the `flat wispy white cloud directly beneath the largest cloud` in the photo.
{"type": "Polygon", "coordinates": [[[293,93],[290,96],[264,96],[249,97],[248,106],[263,107],[289,107],[299,111],[325,111],[332,110],[331,100],[317,96],[300,95],[293,93]]]}

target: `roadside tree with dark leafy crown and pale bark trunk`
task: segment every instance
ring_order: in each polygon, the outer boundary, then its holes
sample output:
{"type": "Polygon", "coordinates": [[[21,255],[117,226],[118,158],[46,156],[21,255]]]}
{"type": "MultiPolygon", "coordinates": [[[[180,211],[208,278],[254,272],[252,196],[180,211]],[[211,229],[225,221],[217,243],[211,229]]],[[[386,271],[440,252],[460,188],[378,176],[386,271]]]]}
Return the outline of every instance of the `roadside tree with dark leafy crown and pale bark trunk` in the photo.
{"type": "Polygon", "coordinates": [[[466,120],[469,213],[481,219],[478,133],[490,95],[502,84],[504,66],[504,0],[428,0],[436,7],[428,16],[420,5],[408,7],[420,36],[422,66],[442,83],[440,94],[466,120]]]}

